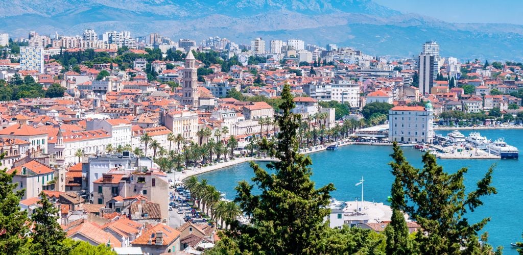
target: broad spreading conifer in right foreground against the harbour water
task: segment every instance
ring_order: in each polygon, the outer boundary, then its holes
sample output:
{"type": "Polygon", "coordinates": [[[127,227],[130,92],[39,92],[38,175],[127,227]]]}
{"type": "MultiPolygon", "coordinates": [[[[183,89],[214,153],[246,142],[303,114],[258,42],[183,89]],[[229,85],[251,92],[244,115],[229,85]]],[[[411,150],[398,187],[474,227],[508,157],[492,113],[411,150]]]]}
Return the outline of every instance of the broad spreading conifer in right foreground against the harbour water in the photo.
{"type": "Polygon", "coordinates": [[[394,143],[393,158],[395,164],[401,167],[396,167],[393,175],[399,179],[407,203],[395,205],[423,229],[415,235],[419,253],[489,253],[485,250],[488,246],[480,245],[477,232],[490,218],[470,224],[464,215],[483,204],[480,200],[482,196],[496,193],[496,189],[491,186],[494,166],[477,182],[475,190],[466,193],[463,180],[467,168],[447,173],[436,163],[434,155],[426,153],[422,157],[424,167],[416,169],[399,155],[399,150],[397,143],[394,143]],[[465,247],[465,250],[460,251],[461,247],[465,247]]]}

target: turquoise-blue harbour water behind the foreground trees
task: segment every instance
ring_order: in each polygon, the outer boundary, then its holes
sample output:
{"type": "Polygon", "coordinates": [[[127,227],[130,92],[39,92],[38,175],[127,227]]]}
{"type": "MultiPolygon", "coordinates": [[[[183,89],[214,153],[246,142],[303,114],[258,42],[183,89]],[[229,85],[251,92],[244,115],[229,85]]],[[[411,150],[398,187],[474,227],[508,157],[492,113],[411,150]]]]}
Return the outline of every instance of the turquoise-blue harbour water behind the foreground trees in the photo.
{"type": "MultiPolygon", "coordinates": [[[[465,136],[470,132],[461,131],[465,136]]],[[[504,137],[505,141],[523,150],[523,130],[480,130],[481,135],[492,140],[504,137]]],[[[437,132],[447,134],[447,131],[437,132]]],[[[361,188],[355,184],[361,176],[365,179],[364,199],[386,203],[390,195],[393,176],[390,173],[391,146],[365,146],[349,145],[339,147],[334,151],[323,151],[310,155],[313,165],[312,180],[316,188],[325,184],[334,183],[336,190],[332,192],[333,198],[340,201],[355,200],[361,197],[361,188]]],[[[404,154],[415,167],[422,167],[420,152],[413,148],[404,148],[404,154]]],[[[454,172],[461,167],[468,167],[465,175],[465,186],[472,190],[489,166],[497,164],[493,175],[492,185],[497,189],[497,194],[484,197],[484,205],[469,213],[471,223],[480,221],[483,217],[491,217],[482,231],[488,231],[488,242],[494,246],[504,246],[505,254],[517,254],[516,249],[510,247],[510,242],[521,240],[523,232],[523,158],[517,159],[438,159],[438,163],[449,172],[454,172]]],[[[260,163],[264,166],[265,163],[260,163]]],[[[219,171],[203,173],[199,178],[207,179],[218,190],[226,192],[228,199],[233,199],[236,192],[234,188],[238,181],[250,182],[254,176],[248,163],[224,168],[219,171]]],[[[483,233],[483,232],[482,232],[483,233]]],[[[480,233],[481,234],[481,233],[480,233]]]]}

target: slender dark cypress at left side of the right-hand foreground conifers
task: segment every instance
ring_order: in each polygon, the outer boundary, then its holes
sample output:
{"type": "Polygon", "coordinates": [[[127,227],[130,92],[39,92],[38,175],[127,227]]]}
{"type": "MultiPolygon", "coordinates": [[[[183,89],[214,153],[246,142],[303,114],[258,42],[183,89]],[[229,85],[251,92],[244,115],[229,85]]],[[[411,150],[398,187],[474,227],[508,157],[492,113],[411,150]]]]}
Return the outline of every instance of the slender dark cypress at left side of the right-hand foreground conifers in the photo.
{"type": "MultiPolygon", "coordinates": [[[[405,168],[410,167],[408,164],[405,164],[405,157],[399,146],[394,146],[394,153],[391,156],[395,160],[389,164],[392,167],[393,175],[398,175],[400,172],[405,171],[405,168]]],[[[397,177],[392,184],[391,196],[392,217],[391,223],[385,227],[385,236],[387,237],[385,252],[389,255],[413,254],[415,252],[409,237],[407,223],[403,213],[400,211],[400,208],[406,206],[405,193],[403,192],[401,180],[397,177]]]]}

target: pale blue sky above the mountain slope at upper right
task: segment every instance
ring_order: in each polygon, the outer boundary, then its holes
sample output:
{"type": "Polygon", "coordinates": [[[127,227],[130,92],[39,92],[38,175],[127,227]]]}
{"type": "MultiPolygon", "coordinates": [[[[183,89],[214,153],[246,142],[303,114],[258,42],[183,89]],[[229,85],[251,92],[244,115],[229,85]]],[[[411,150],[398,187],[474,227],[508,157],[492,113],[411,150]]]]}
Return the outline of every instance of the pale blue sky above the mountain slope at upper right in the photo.
{"type": "Polygon", "coordinates": [[[417,13],[448,22],[523,25],[523,0],[374,0],[404,13],[417,13]]]}

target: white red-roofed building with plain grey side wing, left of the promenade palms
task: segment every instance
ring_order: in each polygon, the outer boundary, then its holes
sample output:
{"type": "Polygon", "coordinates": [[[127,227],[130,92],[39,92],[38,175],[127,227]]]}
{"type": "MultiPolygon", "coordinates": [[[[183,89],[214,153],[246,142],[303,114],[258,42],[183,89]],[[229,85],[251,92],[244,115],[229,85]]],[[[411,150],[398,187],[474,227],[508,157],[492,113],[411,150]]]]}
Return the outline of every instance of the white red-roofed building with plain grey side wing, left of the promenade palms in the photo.
{"type": "Polygon", "coordinates": [[[126,146],[131,145],[132,132],[131,122],[122,119],[109,119],[109,120],[87,120],[86,130],[104,130],[111,135],[111,144],[113,148],[118,145],[126,146]]]}

